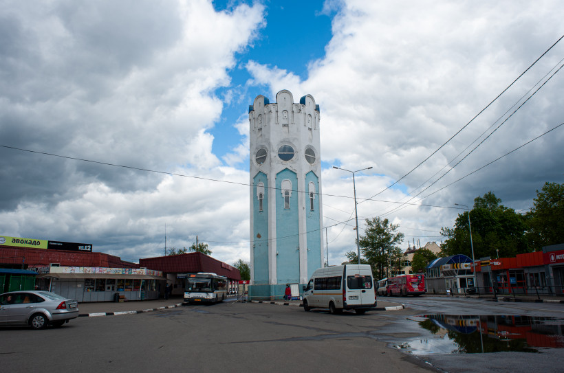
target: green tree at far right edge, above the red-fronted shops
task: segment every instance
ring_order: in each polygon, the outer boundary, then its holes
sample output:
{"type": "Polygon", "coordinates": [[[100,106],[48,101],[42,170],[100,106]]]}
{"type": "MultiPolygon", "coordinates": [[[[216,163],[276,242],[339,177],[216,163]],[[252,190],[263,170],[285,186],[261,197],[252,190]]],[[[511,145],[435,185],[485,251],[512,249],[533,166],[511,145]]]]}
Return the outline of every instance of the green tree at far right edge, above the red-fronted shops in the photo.
{"type": "Polygon", "coordinates": [[[543,246],[564,243],[564,183],[545,183],[527,215],[530,245],[539,251],[543,246]]]}

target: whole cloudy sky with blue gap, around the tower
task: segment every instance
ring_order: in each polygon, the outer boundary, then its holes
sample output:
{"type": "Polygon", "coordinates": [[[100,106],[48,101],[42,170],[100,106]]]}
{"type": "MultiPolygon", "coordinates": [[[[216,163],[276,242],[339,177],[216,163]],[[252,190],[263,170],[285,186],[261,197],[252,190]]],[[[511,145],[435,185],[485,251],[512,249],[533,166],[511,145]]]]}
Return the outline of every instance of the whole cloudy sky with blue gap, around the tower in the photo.
{"type": "Polygon", "coordinates": [[[0,235],[132,262],[197,236],[250,260],[248,106],[282,89],[321,108],[329,264],[356,251],[353,180],[332,166],[372,167],[360,234],[388,218],[402,249],[440,243],[455,203],[489,191],[525,213],[564,182],[563,16],[558,0],[2,0],[0,235]]]}

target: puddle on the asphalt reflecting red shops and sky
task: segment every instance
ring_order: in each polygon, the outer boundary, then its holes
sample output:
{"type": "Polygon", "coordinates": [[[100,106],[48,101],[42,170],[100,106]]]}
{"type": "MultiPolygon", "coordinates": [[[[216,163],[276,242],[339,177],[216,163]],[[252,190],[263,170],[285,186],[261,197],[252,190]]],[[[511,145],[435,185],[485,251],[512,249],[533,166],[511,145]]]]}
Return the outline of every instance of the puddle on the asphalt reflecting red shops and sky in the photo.
{"type": "Polygon", "coordinates": [[[411,318],[424,336],[395,348],[411,354],[539,352],[564,348],[564,319],[531,316],[422,315],[411,318]]]}

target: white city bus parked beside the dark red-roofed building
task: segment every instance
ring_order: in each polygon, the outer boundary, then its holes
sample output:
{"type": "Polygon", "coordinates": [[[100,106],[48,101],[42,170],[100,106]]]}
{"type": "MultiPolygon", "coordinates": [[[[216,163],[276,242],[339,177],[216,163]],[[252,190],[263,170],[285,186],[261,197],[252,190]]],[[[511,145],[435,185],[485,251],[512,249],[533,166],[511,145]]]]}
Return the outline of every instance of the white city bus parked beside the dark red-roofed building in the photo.
{"type": "Polygon", "coordinates": [[[216,304],[227,297],[227,278],[215,273],[190,273],[186,278],[184,303],[216,304]]]}

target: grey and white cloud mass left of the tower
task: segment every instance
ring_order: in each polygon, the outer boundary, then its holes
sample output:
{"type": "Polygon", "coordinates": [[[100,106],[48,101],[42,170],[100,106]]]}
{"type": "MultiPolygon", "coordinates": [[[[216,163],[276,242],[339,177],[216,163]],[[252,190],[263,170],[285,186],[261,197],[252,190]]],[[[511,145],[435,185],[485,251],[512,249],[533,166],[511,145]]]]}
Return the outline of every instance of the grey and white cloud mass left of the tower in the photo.
{"type": "MultiPolygon", "coordinates": [[[[263,27],[263,12],[259,3],[216,12],[204,0],[9,2],[0,12],[1,143],[248,183],[245,172],[221,167],[208,130],[224,105],[215,91],[230,84],[235,55],[263,27]]],[[[179,246],[199,233],[217,236],[217,215],[226,236],[241,224],[230,206],[241,187],[229,183],[7,148],[0,177],[5,234],[95,240],[98,251],[131,260],[160,253],[165,223],[179,246]]]]}

